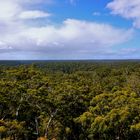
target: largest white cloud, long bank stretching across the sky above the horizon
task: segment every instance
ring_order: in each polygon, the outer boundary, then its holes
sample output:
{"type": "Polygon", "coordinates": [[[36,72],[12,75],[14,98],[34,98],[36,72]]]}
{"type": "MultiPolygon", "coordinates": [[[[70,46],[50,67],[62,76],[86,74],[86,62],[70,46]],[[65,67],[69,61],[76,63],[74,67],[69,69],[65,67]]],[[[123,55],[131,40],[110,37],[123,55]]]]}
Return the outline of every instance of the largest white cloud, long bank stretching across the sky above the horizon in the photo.
{"type": "Polygon", "coordinates": [[[113,45],[128,41],[132,34],[132,30],[107,24],[67,19],[60,27],[23,27],[15,34],[0,38],[13,52],[34,52],[61,59],[107,53],[113,45]]]}

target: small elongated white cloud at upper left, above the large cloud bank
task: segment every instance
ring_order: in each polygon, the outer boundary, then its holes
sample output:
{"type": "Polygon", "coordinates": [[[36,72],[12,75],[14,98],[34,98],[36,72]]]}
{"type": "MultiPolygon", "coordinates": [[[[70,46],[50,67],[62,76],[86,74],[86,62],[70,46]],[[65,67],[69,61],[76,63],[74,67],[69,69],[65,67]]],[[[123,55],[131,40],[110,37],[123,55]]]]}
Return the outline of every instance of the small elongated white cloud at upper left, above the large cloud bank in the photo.
{"type": "Polygon", "coordinates": [[[49,17],[50,14],[39,11],[39,10],[30,10],[30,11],[23,11],[20,13],[19,18],[20,19],[37,19],[37,18],[46,18],[49,17]]]}

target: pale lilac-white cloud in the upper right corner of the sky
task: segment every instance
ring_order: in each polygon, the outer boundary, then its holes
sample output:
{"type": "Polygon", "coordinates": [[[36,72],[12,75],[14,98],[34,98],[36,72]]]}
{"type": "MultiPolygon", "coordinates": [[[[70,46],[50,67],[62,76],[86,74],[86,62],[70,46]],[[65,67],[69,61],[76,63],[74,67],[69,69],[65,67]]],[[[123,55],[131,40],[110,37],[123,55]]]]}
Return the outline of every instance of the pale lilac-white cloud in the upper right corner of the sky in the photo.
{"type": "Polygon", "coordinates": [[[112,14],[132,19],[133,25],[140,28],[140,0],[113,0],[107,7],[112,14]]]}

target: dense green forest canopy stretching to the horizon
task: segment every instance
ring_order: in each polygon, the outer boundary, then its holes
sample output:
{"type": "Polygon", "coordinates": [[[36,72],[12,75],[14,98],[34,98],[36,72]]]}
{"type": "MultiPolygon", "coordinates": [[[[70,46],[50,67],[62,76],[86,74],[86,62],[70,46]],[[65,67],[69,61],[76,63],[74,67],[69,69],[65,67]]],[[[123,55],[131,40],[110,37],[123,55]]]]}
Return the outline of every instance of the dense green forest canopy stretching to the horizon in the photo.
{"type": "Polygon", "coordinates": [[[0,140],[140,140],[140,61],[0,62],[0,140]]]}

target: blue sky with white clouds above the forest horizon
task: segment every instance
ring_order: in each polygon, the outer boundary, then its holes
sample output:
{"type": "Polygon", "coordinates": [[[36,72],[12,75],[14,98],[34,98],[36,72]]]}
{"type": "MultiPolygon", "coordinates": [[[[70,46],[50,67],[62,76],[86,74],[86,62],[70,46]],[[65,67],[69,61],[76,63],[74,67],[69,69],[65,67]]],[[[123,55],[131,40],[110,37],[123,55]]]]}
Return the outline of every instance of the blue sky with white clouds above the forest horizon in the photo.
{"type": "Polygon", "coordinates": [[[140,0],[0,0],[0,60],[140,59],[140,0]]]}

